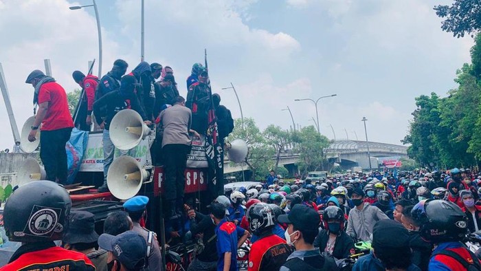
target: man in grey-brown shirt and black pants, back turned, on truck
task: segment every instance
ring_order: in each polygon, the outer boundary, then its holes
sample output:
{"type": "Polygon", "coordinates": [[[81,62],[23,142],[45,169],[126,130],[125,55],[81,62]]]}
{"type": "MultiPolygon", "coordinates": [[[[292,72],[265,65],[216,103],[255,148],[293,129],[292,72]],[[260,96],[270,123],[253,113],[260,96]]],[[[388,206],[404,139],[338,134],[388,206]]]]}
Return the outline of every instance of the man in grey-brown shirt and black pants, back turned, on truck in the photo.
{"type": "Polygon", "coordinates": [[[164,172],[166,174],[166,217],[176,219],[176,207],[182,210],[183,191],[186,188],[187,155],[190,152],[190,136],[193,133],[200,137],[197,131],[190,129],[192,113],[186,107],[186,100],[178,96],[175,104],[160,113],[164,134],[162,135],[162,153],[164,153],[164,172]]]}

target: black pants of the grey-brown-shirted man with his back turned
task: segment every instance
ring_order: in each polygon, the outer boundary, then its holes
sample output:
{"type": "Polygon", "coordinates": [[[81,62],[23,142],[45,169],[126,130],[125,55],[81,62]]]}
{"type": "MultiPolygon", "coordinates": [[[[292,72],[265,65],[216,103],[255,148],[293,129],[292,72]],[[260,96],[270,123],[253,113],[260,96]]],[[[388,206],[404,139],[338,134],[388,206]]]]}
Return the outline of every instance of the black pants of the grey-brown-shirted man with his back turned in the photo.
{"type": "Polygon", "coordinates": [[[190,146],[185,144],[166,144],[162,148],[164,155],[164,169],[166,174],[165,199],[168,201],[183,198],[183,191],[186,188],[187,154],[190,146]]]}

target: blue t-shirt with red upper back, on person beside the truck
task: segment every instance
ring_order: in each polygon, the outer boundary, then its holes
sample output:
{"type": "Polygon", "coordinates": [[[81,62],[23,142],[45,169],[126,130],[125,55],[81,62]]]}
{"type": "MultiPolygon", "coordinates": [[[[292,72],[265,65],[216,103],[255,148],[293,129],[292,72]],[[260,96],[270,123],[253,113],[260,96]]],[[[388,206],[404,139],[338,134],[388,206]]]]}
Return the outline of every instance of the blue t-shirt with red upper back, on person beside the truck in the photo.
{"type": "Polygon", "coordinates": [[[237,241],[239,237],[244,235],[245,230],[222,219],[221,223],[216,226],[215,231],[217,235],[217,255],[219,256],[217,270],[222,271],[224,269],[224,253],[231,252],[229,270],[237,271],[237,241]]]}

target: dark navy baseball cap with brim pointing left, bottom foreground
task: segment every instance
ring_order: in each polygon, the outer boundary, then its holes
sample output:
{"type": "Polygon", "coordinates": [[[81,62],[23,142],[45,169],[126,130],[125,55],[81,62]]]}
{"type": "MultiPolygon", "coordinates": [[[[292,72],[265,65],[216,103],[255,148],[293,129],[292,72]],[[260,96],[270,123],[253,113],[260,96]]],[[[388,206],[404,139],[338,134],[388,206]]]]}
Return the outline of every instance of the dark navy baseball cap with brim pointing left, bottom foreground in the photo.
{"type": "Polygon", "coordinates": [[[104,233],[98,238],[98,246],[112,252],[128,270],[137,270],[147,263],[147,243],[133,230],[117,236],[104,233]]]}

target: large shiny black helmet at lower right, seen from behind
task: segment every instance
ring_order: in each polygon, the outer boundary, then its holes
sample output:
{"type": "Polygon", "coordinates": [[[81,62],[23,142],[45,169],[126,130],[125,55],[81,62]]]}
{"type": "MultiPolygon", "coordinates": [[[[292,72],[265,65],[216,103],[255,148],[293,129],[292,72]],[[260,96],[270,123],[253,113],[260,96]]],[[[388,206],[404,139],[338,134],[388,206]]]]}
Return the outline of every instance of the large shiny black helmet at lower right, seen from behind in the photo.
{"type": "Polygon", "coordinates": [[[419,233],[430,243],[460,241],[468,232],[467,217],[456,204],[443,199],[425,199],[411,211],[419,233]]]}

